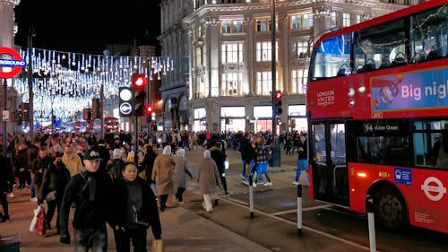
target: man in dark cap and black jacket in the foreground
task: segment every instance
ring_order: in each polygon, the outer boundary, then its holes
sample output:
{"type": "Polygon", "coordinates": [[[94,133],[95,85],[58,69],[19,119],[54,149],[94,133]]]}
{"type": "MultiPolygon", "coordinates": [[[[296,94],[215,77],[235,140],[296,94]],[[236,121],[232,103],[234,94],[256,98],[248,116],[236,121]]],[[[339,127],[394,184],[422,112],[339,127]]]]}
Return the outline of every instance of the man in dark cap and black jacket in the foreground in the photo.
{"type": "Polygon", "coordinates": [[[96,149],[83,156],[85,167],[73,176],[65,187],[59,222],[61,243],[70,244],[68,231],[70,208],[76,208],[73,216],[73,240],[75,251],[107,251],[108,233],[106,222],[109,214],[112,181],[104,170],[99,169],[101,157],[96,149]]]}

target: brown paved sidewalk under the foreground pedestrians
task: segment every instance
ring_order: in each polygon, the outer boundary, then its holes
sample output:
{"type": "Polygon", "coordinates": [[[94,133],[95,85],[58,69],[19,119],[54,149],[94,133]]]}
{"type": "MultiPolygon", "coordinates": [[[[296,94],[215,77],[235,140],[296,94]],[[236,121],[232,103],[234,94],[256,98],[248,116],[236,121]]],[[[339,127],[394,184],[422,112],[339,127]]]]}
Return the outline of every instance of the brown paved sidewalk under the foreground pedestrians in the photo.
{"type": "MultiPolygon", "coordinates": [[[[20,251],[22,252],[73,251],[73,243],[71,245],[59,243],[56,229],[47,230],[43,237],[30,232],[30,221],[37,204],[30,201],[29,188],[14,188],[13,193],[15,197],[8,198],[11,221],[0,223],[0,235],[20,234],[22,240],[20,251]]],[[[271,251],[184,207],[168,207],[165,212],[159,214],[166,251],[271,251]]],[[[71,215],[73,216],[73,213],[71,215]]],[[[55,217],[52,226],[56,226],[55,217]]],[[[73,230],[70,230],[70,233],[73,238],[73,230]]],[[[150,228],[148,248],[151,247],[152,239],[150,228]]],[[[2,248],[0,251],[3,251],[2,248]]],[[[116,251],[113,232],[109,227],[108,251],[116,251]]]]}

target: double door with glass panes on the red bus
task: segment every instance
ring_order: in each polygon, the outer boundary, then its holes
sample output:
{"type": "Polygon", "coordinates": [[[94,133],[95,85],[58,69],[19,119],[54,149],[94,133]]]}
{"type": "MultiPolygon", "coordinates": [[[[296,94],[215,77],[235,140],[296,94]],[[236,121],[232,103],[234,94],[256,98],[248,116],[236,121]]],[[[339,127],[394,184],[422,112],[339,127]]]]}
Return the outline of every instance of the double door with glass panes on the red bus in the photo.
{"type": "Polygon", "coordinates": [[[347,121],[342,119],[311,125],[309,160],[316,200],[349,205],[346,129],[347,121]]]}

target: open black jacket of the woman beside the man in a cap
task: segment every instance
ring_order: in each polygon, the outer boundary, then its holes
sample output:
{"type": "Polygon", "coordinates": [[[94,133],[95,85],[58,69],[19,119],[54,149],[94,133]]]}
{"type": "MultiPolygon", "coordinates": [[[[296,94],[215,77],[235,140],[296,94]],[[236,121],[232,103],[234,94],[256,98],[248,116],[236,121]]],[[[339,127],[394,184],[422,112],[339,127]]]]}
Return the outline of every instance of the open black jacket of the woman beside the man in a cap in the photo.
{"type": "MultiPolygon", "coordinates": [[[[152,194],[151,187],[145,184],[142,178],[136,178],[137,184],[142,188],[142,210],[140,211],[139,221],[148,223],[147,228],[151,226],[154,238],[159,239],[161,234],[161,226],[159,220],[159,209],[157,208],[156,197],[152,194]]],[[[126,213],[130,211],[128,207],[129,192],[124,179],[119,179],[113,186],[112,194],[114,195],[113,205],[110,208],[112,218],[109,222],[112,228],[115,226],[128,228],[131,223],[127,223],[126,213]]]]}

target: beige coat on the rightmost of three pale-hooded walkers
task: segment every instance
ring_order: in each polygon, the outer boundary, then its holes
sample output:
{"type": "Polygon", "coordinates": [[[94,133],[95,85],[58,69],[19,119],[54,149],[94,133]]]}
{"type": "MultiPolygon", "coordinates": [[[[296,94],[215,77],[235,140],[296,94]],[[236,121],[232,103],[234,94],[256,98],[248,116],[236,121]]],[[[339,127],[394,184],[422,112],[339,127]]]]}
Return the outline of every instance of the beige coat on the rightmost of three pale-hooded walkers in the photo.
{"type": "Polygon", "coordinates": [[[221,186],[220,173],[216,167],[215,161],[211,158],[202,158],[199,161],[198,182],[201,188],[201,194],[214,194],[218,192],[221,186]]]}

